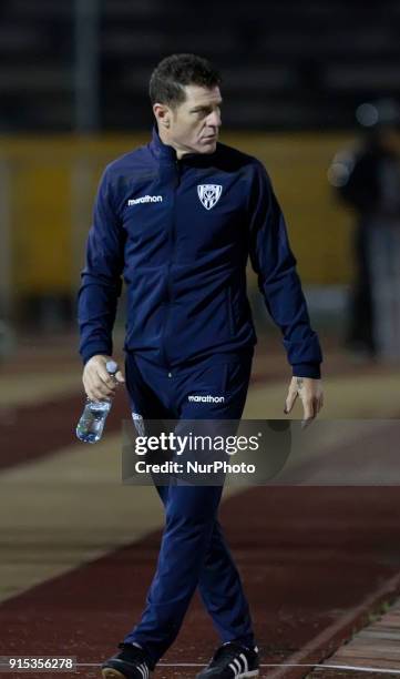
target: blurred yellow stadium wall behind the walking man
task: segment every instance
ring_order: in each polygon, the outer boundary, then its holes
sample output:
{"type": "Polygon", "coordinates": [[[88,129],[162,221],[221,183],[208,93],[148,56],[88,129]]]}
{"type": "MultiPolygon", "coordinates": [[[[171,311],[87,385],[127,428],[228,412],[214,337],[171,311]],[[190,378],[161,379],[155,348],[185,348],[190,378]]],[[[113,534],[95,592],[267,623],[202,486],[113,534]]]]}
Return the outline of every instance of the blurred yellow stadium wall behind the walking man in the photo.
{"type": "MultiPolygon", "coordinates": [[[[9,281],[18,308],[41,297],[73,300],[83,265],[92,202],[104,165],[146,143],[144,134],[4,138],[0,163],[8,223],[9,281]]],[[[298,268],[307,285],[342,285],[352,275],[352,216],[327,180],[338,149],[352,139],[326,133],[223,133],[222,141],[259,158],[283,205],[298,268]]],[[[1,245],[1,243],[0,243],[1,245]]],[[[250,277],[250,286],[255,284],[250,277]]],[[[10,303],[11,302],[11,303],[10,303]]]]}

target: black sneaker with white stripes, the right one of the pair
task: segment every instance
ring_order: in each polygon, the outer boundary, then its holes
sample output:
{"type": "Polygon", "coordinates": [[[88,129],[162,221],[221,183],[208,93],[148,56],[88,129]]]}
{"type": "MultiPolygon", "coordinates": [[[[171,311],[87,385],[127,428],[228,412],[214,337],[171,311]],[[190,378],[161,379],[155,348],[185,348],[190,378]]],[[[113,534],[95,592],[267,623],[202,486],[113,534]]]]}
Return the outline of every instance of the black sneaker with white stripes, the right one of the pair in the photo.
{"type": "Polygon", "coordinates": [[[220,646],[213,660],[202,670],[196,679],[244,679],[258,676],[258,648],[246,648],[229,641],[220,646]]]}

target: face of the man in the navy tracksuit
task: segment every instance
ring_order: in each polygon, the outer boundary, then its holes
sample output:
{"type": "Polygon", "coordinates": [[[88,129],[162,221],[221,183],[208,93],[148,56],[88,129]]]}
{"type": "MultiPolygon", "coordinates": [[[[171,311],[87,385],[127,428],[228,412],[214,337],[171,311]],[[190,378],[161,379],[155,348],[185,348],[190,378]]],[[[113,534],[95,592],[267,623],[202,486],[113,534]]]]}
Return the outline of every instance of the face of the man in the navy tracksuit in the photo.
{"type": "Polygon", "coordinates": [[[214,153],[220,128],[219,88],[184,89],[186,100],[168,111],[170,141],[184,153],[214,153]]]}

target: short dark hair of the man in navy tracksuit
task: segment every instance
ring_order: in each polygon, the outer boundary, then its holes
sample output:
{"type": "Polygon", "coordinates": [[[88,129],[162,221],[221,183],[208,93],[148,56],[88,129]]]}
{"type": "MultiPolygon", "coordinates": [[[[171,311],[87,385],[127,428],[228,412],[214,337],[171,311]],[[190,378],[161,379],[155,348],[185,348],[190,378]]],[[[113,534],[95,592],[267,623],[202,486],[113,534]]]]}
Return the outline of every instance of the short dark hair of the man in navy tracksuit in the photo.
{"type": "Polygon", "coordinates": [[[163,103],[175,108],[186,99],[185,85],[215,88],[220,81],[220,74],[207,59],[197,54],[171,54],[152,73],[150,99],[152,104],[163,103]]]}

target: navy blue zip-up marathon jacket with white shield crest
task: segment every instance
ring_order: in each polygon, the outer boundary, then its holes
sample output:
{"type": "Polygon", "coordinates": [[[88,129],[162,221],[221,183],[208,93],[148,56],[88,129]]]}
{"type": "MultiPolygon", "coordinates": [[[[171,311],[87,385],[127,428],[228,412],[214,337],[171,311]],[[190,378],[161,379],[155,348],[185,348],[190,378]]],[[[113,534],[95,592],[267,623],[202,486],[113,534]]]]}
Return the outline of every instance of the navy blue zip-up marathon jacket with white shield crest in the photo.
{"type": "Polygon", "coordinates": [[[177,161],[154,130],[100,182],[79,293],[83,362],[112,354],[122,277],[125,349],[174,367],[253,347],[248,257],[294,374],[319,377],[318,337],[263,164],[220,143],[177,161]]]}

